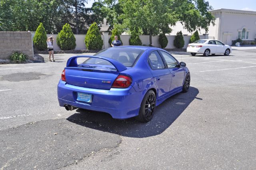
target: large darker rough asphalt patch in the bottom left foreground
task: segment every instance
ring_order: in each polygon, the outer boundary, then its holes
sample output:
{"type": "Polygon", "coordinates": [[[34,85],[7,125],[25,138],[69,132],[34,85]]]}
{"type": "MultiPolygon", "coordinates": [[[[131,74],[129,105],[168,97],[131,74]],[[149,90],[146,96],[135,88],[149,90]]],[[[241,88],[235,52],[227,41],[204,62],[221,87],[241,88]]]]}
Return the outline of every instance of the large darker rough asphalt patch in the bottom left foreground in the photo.
{"type": "Polygon", "coordinates": [[[121,142],[117,134],[66,119],[32,122],[0,131],[0,136],[0,169],[4,170],[63,168],[121,142]]]}

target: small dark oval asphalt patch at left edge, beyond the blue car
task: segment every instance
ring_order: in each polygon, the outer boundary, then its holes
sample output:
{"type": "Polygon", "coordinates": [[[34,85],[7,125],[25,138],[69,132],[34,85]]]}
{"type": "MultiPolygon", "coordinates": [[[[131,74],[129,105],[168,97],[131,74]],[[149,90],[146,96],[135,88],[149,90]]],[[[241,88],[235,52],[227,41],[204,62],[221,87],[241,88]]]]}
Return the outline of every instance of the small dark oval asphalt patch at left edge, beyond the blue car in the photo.
{"type": "Polygon", "coordinates": [[[37,73],[37,72],[24,72],[15,73],[2,76],[0,80],[6,80],[9,82],[20,82],[20,81],[30,81],[39,80],[42,76],[47,76],[47,74],[37,73]]]}

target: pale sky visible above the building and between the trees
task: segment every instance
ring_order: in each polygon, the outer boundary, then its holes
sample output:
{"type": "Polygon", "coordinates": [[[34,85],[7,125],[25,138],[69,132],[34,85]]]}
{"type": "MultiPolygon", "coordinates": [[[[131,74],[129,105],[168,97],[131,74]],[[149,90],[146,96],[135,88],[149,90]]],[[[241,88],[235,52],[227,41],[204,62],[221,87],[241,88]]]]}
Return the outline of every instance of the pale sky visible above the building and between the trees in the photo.
{"type": "MultiPolygon", "coordinates": [[[[206,0],[214,10],[220,8],[232,10],[256,11],[256,0],[206,0]]],[[[94,0],[88,0],[87,8],[92,6],[94,0]]]]}

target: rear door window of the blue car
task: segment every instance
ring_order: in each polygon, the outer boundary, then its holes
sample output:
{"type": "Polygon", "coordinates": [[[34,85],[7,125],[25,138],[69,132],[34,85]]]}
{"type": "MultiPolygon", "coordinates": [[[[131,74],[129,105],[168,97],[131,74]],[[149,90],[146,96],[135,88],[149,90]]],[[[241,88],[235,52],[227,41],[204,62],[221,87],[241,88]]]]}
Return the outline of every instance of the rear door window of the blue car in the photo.
{"type": "Polygon", "coordinates": [[[152,68],[152,70],[165,68],[164,62],[157,51],[153,51],[148,56],[148,64],[152,68]]]}

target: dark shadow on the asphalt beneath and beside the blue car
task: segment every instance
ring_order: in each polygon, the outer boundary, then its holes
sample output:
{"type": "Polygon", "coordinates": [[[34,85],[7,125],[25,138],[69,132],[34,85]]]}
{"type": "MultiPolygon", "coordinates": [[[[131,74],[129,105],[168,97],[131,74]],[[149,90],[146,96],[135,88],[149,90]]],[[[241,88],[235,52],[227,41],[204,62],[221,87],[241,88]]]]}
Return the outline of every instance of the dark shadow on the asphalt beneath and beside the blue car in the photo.
{"type": "Polygon", "coordinates": [[[126,120],[113,119],[110,114],[91,110],[77,109],[67,118],[68,121],[113,134],[132,138],[145,138],[161,134],[166,130],[194,100],[199,93],[197,88],[190,87],[187,93],[179,93],[156,107],[154,117],[148,123],[137,122],[135,118],[126,120]]]}

